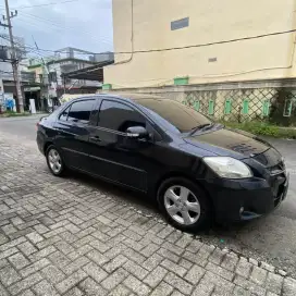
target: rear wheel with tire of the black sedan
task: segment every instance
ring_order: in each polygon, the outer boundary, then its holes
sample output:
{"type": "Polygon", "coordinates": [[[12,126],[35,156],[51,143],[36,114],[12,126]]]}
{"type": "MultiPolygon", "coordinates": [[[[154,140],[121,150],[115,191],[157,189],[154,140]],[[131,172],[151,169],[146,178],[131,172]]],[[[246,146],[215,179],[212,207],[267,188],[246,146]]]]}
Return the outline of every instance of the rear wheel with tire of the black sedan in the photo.
{"type": "Polygon", "coordinates": [[[55,146],[50,145],[46,151],[47,165],[54,176],[63,176],[65,173],[65,165],[62,156],[55,146]]]}

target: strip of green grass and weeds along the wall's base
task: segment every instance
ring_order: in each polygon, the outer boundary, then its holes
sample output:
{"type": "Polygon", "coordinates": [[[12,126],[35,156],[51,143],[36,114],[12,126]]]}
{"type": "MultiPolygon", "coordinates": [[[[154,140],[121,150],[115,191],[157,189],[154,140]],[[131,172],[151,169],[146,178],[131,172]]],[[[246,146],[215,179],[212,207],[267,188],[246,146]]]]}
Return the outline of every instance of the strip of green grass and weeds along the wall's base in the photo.
{"type": "Polygon", "coordinates": [[[238,128],[255,135],[270,136],[275,138],[296,138],[296,128],[281,127],[264,122],[223,122],[227,127],[238,128]]]}

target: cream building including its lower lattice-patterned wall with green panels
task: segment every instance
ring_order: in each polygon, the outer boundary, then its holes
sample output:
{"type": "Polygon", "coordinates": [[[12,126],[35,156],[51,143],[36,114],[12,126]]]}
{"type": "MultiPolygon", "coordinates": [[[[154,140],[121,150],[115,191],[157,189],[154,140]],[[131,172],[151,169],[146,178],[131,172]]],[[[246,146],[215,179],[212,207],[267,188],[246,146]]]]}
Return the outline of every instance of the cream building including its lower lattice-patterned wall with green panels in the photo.
{"type": "Polygon", "coordinates": [[[104,88],[222,120],[296,124],[295,28],[295,0],[113,0],[104,88]]]}

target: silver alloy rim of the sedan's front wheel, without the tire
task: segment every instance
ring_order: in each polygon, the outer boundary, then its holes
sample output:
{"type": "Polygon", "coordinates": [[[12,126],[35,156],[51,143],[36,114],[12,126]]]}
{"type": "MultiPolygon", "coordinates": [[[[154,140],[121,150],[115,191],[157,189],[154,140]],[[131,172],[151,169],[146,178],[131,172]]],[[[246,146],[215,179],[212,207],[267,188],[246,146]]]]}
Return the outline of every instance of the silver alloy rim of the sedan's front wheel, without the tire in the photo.
{"type": "Polygon", "coordinates": [[[169,215],[183,225],[192,225],[200,217],[199,201],[185,186],[169,187],[164,193],[164,207],[169,215]]]}

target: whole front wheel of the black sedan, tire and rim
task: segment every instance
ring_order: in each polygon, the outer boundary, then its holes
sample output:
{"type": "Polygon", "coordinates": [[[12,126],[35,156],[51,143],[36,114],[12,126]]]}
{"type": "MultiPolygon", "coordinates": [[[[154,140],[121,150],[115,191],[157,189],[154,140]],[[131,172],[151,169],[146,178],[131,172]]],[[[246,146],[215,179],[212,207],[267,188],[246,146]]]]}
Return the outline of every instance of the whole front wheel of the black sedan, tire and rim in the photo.
{"type": "Polygon", "coordinates": [[[209,197],[189,180],[165,180],[160,185],[157,197],[166,220],[178,230],[197,232],[208,227],[212,221],[209,197]]]}

